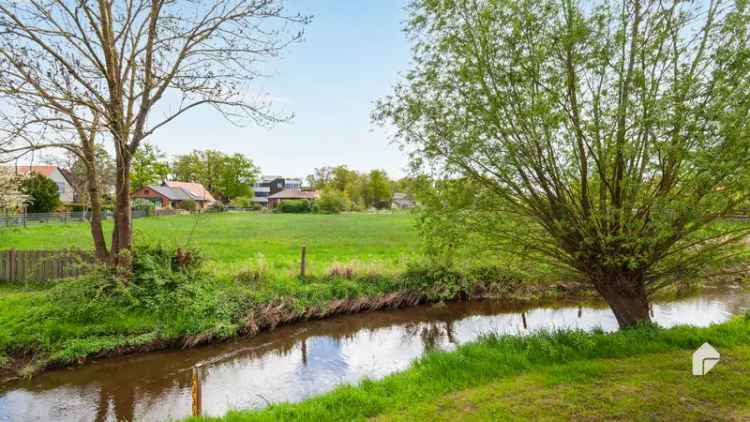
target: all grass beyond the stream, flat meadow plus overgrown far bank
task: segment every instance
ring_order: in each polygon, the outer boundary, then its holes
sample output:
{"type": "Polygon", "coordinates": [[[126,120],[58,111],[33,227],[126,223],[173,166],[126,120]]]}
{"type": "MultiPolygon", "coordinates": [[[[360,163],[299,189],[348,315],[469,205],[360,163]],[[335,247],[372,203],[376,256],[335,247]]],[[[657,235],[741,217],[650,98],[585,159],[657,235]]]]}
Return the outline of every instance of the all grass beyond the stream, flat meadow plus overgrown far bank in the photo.
{"type": "MultiPolygon", "coordinates": [[[[504,262],[473,271],[420,260],[406,213],[152,217],[135,221],[135,238],[126,278],[97,268],[79,279],[0,285],[0,372],[27,375],[91,356],[187,347],[289,321],[475,292],[527,295],[504,262]],[[303,245],[308,271],[301,278],[303,245]],[[176,247],[197,248],[205,262],[175,268],[176,247]]],[[[0,230],[0,249],[89,244],[81,223],[0,230]]]]}

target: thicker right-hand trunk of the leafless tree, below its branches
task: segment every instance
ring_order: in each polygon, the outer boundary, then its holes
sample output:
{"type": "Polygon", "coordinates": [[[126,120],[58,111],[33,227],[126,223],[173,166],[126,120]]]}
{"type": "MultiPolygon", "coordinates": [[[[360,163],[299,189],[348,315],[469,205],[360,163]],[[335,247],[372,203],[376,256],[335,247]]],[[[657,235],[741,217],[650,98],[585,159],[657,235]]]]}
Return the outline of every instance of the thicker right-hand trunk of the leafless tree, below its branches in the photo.
{"type": "Polygon", "coordinates": [[[133,242],[132,214],[130,210],[130,159],[117,157],[117,180],[115,182],[114,229],[112,231],[112,258],[116,265],[129,264],[123,254],[130,250],[133,242]]]}

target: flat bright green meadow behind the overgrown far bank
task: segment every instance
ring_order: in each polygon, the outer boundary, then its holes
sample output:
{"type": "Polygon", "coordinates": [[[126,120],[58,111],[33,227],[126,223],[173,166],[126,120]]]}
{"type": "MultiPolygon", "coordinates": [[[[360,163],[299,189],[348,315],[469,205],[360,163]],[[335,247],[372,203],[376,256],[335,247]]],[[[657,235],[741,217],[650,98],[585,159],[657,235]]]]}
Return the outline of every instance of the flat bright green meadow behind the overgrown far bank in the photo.
{"type": "MultiPolygon", "coordinates": [[[[313,272],[351,261],[403,267],[418,248],[413,218],[408,213],[221,213],[134,221],[137,243],[161,243],[172,249],[195,247],[215,270],[230,273],[261,255],[273,270],[294,270],[303,245],[307,246],[313,272]]],[[[111,228],[111,222],[106,222],[107,234],[111,228]]],[[[91,247],[91,234],[83,223],[0,229],[0,250],[91,247]]]]}

